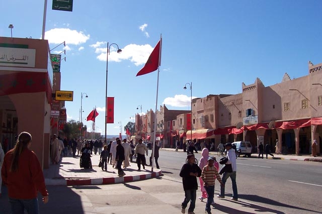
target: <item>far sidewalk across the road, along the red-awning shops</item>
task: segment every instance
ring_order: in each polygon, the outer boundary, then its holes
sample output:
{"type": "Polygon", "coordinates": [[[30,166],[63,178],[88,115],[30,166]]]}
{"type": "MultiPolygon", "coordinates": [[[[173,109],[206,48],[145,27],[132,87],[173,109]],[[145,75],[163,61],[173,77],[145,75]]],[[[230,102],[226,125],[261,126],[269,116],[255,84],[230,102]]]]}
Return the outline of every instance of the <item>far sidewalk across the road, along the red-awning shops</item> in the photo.
{"type": "MultiPolygon", "coordinates": [[[[160,150],[166,150],[166,151],[173,151],[175,152],[176,149],[171,149],[171,148],[161,148],[160,150]]],[[[182,149],[179,149],[179,152],[183,152],[182,149]]],[[[198,153],[201,153],[201,151],[198,151],[198,153]]],[[[217,155],[217,152],[209,152],[209,154],[211,155],[217,155]]],[[[320,162],[322,163],[322,157],[312,157],[309,155],[277,155],[277,154],[273,154],[274,157],[270,156],[268,157],[268,159],[275,159],[275,160],[294,160],[294,161],[314,161],[314,162],[320,162]]],[[[244,155],[240,155],[240,157],[244,157],[244,155]]],[[[252,157],[258,157],[258,153],[252,154],[252,157]]],[[[265,153],[264,153],[264,157],[265,153]]]]}

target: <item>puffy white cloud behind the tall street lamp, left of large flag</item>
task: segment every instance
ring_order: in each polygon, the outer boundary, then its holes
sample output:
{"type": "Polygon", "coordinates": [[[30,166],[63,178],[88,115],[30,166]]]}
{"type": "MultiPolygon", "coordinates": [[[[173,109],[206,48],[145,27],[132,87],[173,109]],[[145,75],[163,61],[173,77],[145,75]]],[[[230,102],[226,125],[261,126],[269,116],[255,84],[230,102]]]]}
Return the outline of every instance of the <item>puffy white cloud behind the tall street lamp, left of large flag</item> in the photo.
{"type": "MultiPolygon", "coordinates": [[[[104,43],[97,42],[95,45],[91,45],[91,47],[95,48],[95,53],[99,54],[97,58],[100,61],[106,61],[107,55],[107,47],[102,48],[100,47],[104,43]],[[98,46],[100,45],[100,46],[98,46]]],[[[121,53],[117,53],[116,48],[112,48],[110,50],[109,61],[120,62],[122,60],[130,60],[136,66],[143,65],[149,55],[151,54],[153,47],[150,45],[136,45],[136,44],[129,44],[122,49],[121,53]]]]}

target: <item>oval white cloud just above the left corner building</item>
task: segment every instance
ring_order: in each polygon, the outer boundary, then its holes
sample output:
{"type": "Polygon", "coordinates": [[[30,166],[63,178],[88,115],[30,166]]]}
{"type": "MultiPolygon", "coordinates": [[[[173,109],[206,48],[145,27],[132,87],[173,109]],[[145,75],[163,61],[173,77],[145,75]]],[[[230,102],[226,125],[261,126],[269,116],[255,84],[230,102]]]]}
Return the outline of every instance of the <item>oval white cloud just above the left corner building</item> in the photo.
{"type": "Polygon", "coordinates": [[[69,45],[79,45],[87,42],[90,39],[90,35],[85,35],[82,31],[69,28],[54,28],[45,32],[45,39],[50,44],[60,44],[65,41],[69,45]]]}

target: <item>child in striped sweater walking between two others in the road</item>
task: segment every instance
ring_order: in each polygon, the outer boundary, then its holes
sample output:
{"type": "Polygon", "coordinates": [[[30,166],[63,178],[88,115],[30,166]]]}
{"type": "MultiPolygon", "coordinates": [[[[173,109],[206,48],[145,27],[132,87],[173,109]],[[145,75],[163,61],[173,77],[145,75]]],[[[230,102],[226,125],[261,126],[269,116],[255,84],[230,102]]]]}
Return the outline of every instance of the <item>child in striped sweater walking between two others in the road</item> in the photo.
{"type": "Polygon", "coordinates": [[[203,167],[201,178],[203,180],[203,186],[207,191],[208,199],[206,203],[206,213],[211,214],[211,207],[210,205],[213,203],[213,196],[215,192],[215,180],[220,182],[220,186],[224,186],[223,182],[218,173],[218,169],[214,166],[214,159],[212,157],[208,157],[207,159],[208,164],[203,167]]]}

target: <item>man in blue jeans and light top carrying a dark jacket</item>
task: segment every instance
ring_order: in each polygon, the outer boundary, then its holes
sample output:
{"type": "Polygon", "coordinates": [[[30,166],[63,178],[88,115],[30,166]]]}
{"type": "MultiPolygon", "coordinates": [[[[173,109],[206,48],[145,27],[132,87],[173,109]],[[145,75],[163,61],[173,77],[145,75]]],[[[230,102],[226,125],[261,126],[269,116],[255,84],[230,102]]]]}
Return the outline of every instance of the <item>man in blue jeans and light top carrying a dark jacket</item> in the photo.
{"type": "Polygon", "coordinates": [[[218,198],[225,198],[225,183],[227,179],[230,177],[231,179],[231,185],[232,185],[232,197],[231,200],[238,200],[238,192],[237,192],[237,184],[236,184],[236,171],[237,171],[237,165],[236,165],[236,155],[235,150],[232,149],[231,143],[226,143],[225,148],[227,150],[226,157],[228,158],[228,161],[225,163],[225,165],[231,166],[232,172],[224,172],[223,176],[221,178],[224,185],[220,186],[220,194],[217,195],[218,198]]]}

